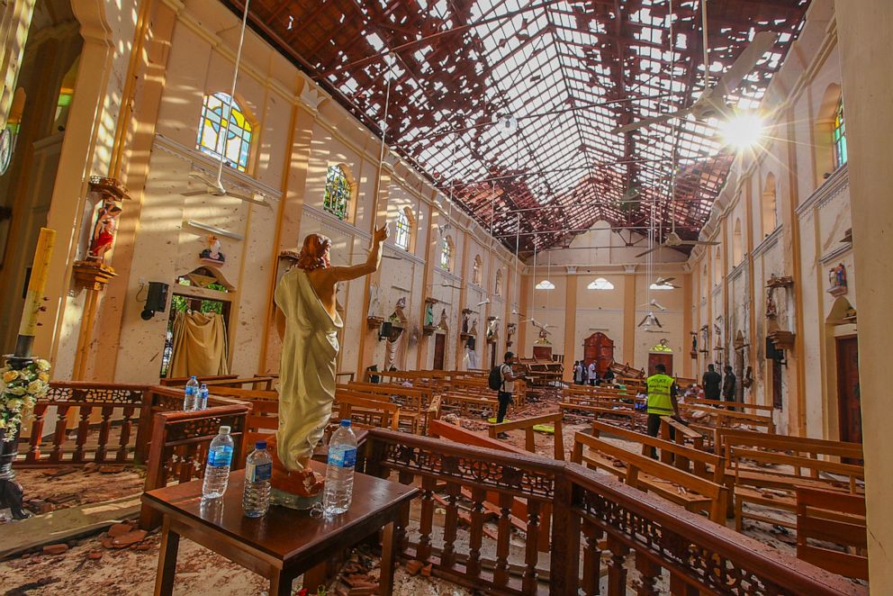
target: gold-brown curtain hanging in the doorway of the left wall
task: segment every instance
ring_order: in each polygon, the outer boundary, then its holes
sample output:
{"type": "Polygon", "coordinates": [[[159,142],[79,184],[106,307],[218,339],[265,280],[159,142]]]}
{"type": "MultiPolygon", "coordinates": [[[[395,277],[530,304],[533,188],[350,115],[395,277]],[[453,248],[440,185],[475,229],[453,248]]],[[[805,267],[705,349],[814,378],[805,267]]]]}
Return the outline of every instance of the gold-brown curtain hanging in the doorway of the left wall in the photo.
{"type": "Polygon", "coordinates": [[[216,312],[177,312],[168,376],[229,375],[226,323],[216,312]]]}

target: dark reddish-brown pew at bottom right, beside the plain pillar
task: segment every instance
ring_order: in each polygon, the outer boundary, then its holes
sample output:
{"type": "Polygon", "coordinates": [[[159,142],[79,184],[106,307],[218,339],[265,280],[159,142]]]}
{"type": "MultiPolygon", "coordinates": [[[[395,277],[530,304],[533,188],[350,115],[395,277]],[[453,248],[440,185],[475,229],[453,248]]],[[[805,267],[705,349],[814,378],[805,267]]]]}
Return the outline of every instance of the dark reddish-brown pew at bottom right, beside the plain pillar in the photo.
{"type": "Polygon", "coordinates": [[[798,487],[798,559],[831,573],[867,580],[867,549],[864,497],[798,487]],[[843,550],[828,548],[827,543],[843,550]]]}

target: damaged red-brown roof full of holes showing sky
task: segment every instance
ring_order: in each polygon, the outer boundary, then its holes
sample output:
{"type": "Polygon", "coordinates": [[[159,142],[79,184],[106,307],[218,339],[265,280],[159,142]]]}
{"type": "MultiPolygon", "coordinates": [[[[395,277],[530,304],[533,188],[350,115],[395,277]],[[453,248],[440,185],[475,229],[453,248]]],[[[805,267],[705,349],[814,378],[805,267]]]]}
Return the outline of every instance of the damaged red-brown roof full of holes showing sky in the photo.
{"type": "MultiPolygon", "coordinates": [[[[707,2],[711,86],[755,33],[779,33],[726,104],[760,103],[808,4],[707,2]]],[[[249,22],[483,229],[532,250],[595,221],[647,230],[652,203],[655,226],[697,238],[734,157],[717,120],[612,130],[703,93],[703,5],[252,0],[249,22]]]]}

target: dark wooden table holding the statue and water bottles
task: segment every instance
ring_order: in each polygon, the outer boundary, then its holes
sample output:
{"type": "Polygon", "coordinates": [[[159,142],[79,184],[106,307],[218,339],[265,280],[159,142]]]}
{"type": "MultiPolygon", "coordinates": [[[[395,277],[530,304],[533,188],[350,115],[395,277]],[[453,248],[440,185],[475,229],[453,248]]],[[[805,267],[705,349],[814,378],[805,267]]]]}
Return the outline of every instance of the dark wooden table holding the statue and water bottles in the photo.
{"type": "MultiPolygon", "coordinates": [[[[325,471],[323,464],[311,465],[325,471]]],[[[395,526],[408,518],[410,501],[418,489],[355,474],[354,500],[346,513],[330,519],[313,518],[308,511],[274,506],[266,516],[251,519],[242,512],[244,476],[242,470],[230,474],[230,485],[221,499],[204,503],[200,480],[142,495],[143,502],[164,516],[157,595],[173,591],[181,536],[263,575],[270,581],[270,596],[274,596],[291,594],[294,578],[380,529],[384,535],[379,593],[391,593],[395,526]]]]}

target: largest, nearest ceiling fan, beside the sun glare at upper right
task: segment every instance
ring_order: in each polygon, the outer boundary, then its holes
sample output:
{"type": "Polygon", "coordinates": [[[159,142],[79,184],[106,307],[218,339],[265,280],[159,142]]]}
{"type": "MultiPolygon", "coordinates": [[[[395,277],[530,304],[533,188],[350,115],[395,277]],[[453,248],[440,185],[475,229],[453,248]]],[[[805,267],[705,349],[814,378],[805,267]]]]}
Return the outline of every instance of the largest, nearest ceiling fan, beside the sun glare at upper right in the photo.
{"type": "MultiPolygon", "coordinates": [[[[701,0],[701,4],[703,5],[704,0],[701,0]]],[[[703,10],[703,9],[702,9],[703,10]]],[[[707,31],[705,28],[704,32],[705,37],[707,37],[707,31]]],[[[699,122],[703,122],[708,118],[719,117],[724,115],[728,108],[726,106],[726,95],[735,91],[739,85],[741,85],[741,81],[744,80],[744,77],[749,75],[753,68],[756,66],[756,63],[762,58],[762,55],[767,51],[771,50],[772,46],[775,45],[775,42],[778,41],[779,34],[776,32],[759,32],[753,36],[753,41],[744,48],[744,51],[738,56],[738,59],[732,64],[731,68],[726,70],[726,73],[720,77],[719,81],[715,86],[709,87],[700,97],[695,101],[694,104],[691,104],[687,108],[682,108],[678,112],[664,113],[660,116],[655,116],[654,118],[645,118],[643,120],[639,120],[636,122],[630,122],[629,124],[625,124],[623,126],[618,126],[614,129],[613,133],[618,134],[621,132],[629,132],[635,131],[638,128],[643,128],[647,126],[652,126],[653,124],[660,124],[662,122],[667,122],[669,120],[674,120],[676,118],[684,118],[689,114],[695,117],[695,120],[699,122]]],[[[705,53],[704,60],[704,77],[705,77],[705,87],[709,85],[709,65],[707,64],[705,53]]]]}

